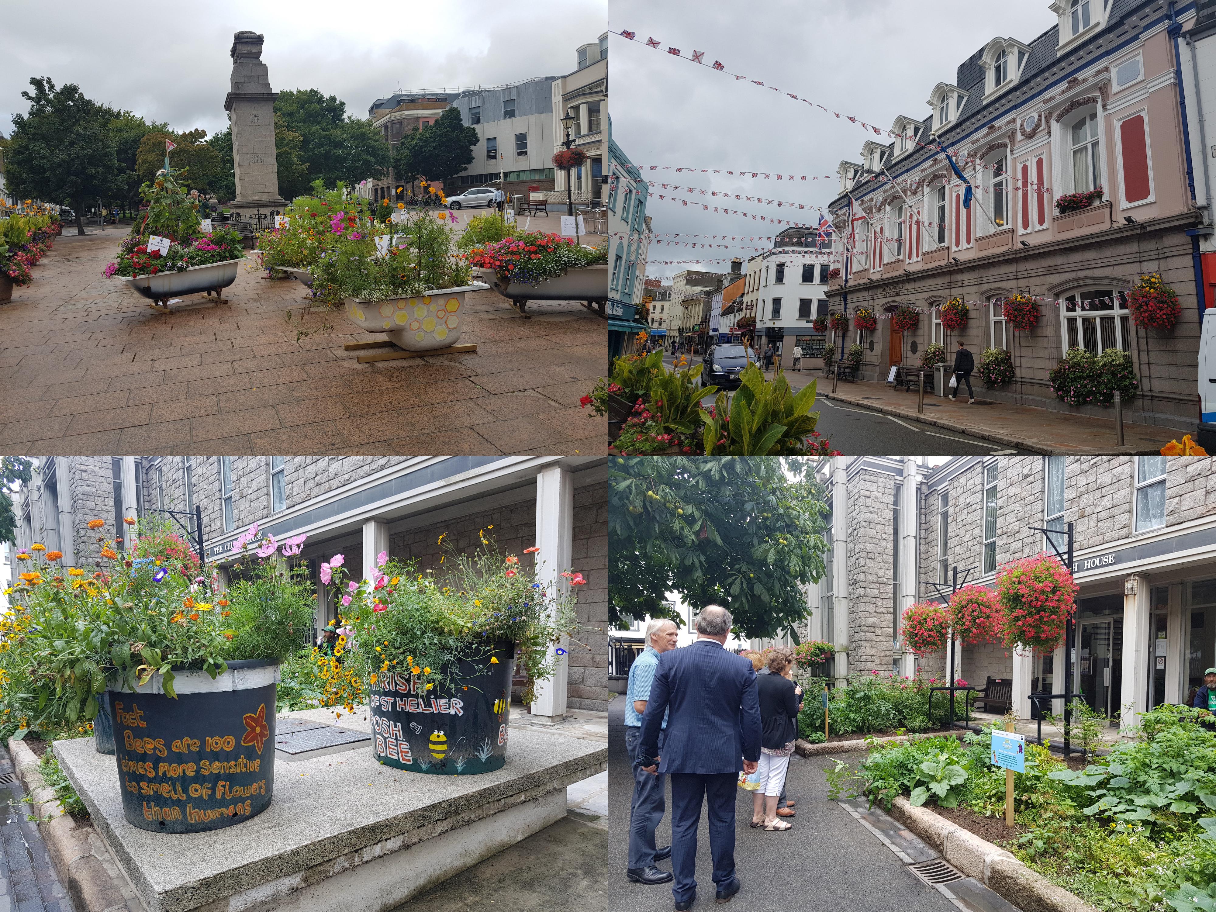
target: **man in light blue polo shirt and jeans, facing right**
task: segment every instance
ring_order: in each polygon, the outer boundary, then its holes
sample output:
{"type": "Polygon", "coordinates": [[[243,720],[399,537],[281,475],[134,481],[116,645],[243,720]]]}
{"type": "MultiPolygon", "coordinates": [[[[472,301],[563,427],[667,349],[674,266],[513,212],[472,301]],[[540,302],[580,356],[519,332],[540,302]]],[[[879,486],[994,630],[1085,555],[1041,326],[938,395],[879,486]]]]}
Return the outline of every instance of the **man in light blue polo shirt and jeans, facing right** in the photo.
{"type": "MultiPolygon", "coordinates": [[[[671,855],[671,846],[654,848],[654,831],[663,820],[663,776],[643,772],[637,765],[637,744],[641,737],[642,714],[651,698],[651,683],[659,666],[659,654],[676,648],[680,627],[675,621],[652,620],[646,625],[646,649],[629,669],[625,692],[625,747],[634,770],[634,800],[629,812],[629,879],[638,884],[665,884],[671,873],[654,867],[671,855]]],[[[663,715],[663,730],[668,727],[663,715]]],[[[659,732],[659,753],[663,753],[664,731],[659,732]]]]}

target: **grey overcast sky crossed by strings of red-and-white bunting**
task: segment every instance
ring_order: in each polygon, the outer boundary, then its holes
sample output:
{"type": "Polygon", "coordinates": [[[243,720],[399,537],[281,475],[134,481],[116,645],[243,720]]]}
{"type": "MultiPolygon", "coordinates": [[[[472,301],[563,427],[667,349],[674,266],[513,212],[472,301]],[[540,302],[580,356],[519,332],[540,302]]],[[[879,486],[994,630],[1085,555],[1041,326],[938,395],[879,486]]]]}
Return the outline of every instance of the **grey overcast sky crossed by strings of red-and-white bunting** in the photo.
{"type": "MultiPolygon", "coordinates": [[[[1055,23],[1048,0],[612,0],[613,32],[627,29],[662,45],[652,50],[608,36],[613,137],[635,164],[820,176],[792,185],[725,174],[646,171],[649,180],[826,208],[839,188],[834,175],[840,161],[860,161],[867,137],[889,139],[784,94],[676,60],[665,52],[669,46],[686,58],[704,51],[705,63],[721,61],[730,72],[889,130],[899,114],[927,117],[933,88],[953,83],[958,64],[997,35],[1029,44],[1055,23]]],[[[662,188],[651,192],[668,195],[662,188]]],[[[689,198],[683,192],[677,196],[689,198]]],[[[731,208],[776,218],[788,214],[784,207],[733,201],[731,208]]],[[[814,212],[794,212],[793,220],[818,219],[814,212]]],[[[655,232],[775,233],[767,223],[657,198],[647,214],[655,232]]],[[[652,246],[649,255],[658,261],[732,253],[753,254],[741,247],[732,252],[652,246]]],[[[696,268],[653,265],[647,275],[665,277],[696,268]]],[[[705,268],[725,271],[728,265],[706,261],[705,268]]]]}

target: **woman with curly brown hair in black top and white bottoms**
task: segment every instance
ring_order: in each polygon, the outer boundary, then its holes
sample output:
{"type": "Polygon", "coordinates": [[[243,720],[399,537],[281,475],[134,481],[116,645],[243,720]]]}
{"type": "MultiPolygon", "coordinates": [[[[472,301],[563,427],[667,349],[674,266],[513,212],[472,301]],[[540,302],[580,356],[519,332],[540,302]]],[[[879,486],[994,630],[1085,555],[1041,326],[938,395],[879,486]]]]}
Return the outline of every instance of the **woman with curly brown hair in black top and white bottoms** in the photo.
{"type": "Polygon", "coordinates": [[[794,683],[794,651],[778,646],[769,654],[769,674],[756,677],[760,694],[760,788],[754,793],[751,826],[781,832],[793,827],[777,816],[777,798],[798,737],[803,688],[794,683]]]}

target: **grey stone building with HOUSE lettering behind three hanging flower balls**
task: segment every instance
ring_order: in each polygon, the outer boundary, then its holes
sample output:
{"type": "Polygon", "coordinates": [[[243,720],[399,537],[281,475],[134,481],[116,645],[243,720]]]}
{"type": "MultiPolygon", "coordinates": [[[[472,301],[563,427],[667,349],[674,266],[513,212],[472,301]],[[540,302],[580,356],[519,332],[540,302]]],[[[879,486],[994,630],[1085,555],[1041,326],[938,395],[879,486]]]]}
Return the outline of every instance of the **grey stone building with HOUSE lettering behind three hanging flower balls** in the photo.
{"type": "MultiPolygon", "coordinates": [[[[956,674],[983,687],[1012,679],[1014,709],[1029,694],[1074,692],[1132,722],[1161,703],[1189,703],[1216,664],[1216,466],[1210,457],[837,457],[824,461],[832,497],[831,573],[809,587],[804,638],[840,651],[834,674],[944,677],[946,654],[918,659],[900,618],[934,599],[931,582],[992,587],[1013,561],[1063,551],[1074,524],[1080,585],[1076,641],[1051,654],[1000,643],[958,646],[956,674]]],[[[1055,711],[1062,708],[1057,706],[1055,711]]]]}

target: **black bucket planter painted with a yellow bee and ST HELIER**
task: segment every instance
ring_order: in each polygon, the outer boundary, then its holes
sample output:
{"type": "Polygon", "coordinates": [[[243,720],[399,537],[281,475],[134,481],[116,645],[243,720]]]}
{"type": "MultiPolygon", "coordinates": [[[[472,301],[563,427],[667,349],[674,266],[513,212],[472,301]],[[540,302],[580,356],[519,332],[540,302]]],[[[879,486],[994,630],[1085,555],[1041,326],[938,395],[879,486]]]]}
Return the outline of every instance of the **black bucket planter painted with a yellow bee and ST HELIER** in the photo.
{"type": "Polygon", "coordinates": [[[371,687],[376,759],[437,776],[502,769],[514,664],[514,646],[500,642],[485,655],[461,659],[450,689],[427,691],[410,674],[378,672],[371,687]]]}

